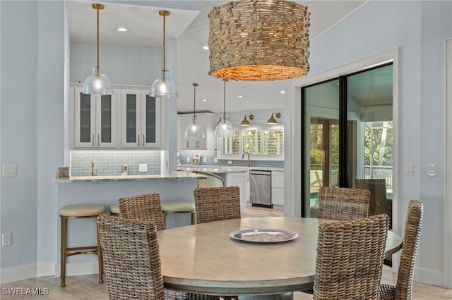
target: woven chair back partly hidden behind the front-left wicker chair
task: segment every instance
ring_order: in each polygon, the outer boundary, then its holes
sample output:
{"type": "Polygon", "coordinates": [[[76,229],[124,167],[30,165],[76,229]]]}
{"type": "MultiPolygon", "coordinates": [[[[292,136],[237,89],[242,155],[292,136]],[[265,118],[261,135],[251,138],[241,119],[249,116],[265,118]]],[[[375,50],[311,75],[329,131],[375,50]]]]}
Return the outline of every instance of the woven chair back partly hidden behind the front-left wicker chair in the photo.
{"type": "Polygon", "coordinates": [[[165,229],[162,202],[158,193],[119,198],[119,212],[122,218],[152,221],[157,230],[165,229]]]}

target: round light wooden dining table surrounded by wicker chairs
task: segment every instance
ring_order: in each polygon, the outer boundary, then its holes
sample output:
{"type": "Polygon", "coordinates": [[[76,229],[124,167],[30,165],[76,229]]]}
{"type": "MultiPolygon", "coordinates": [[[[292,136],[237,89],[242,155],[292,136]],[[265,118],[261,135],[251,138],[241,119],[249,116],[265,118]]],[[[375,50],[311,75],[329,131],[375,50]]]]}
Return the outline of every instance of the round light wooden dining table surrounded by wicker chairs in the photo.
{"type": "MultiPolygon", "coordinates": [[[[314,283],[318,227],[333,220],[264,217],[220,220],[157,232],[165,287],[221,296],[275,295],[314,283]],[[287,230],[286,242],[249,242],[230,237],[239,230],[287,230]]],[[[402,239],[388,232],[386,254],[400,249],[402,239]]],[[[285,294],[285,296],[278,296],[285,294]]],[[[289,296],[287,296],[289,295],[289,296]]],[[[256,296],[255,299],[263,299],[256,296]]]]}

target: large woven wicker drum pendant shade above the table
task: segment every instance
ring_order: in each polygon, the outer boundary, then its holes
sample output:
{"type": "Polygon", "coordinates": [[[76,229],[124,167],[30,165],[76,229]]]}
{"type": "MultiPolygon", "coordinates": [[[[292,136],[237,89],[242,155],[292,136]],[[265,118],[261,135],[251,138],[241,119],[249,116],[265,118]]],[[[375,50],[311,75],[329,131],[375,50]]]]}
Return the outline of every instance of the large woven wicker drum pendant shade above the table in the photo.
{"type": "Polygon", "coordinates": [[[309,71],[309,12],[286,0],[241,0],[209,14],[209,75],[283,80],[309,71]]]}

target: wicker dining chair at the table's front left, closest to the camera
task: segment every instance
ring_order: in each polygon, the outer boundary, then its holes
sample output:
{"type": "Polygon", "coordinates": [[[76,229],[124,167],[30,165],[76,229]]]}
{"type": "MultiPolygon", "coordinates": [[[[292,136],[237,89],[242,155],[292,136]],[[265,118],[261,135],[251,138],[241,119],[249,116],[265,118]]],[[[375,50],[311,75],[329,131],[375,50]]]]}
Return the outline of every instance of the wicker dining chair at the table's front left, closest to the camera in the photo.
{"type": "Polygon", "coordinates": [[[220,299],[163,287],[157,227],[152,221],[102,214],[97,228],[110,300],[220,299]]]}

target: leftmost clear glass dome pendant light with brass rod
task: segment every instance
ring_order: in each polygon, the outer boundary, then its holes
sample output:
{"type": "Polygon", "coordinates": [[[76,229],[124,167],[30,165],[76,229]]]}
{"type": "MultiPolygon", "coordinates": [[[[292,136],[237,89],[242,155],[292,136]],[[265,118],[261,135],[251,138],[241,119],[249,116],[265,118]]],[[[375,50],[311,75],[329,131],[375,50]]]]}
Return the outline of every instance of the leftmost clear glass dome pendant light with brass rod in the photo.
{"type": "Polygon", "coordinates": [[[93,9],[97,10],[97,65],[93,67],[93,74],[89,75],[83,83],[82,93],[88,95],[112,95],[112,81],[102,74],[102,67],[99,64],[99,11],[104,9],[102,4],[93,4],[93,9]]]}

